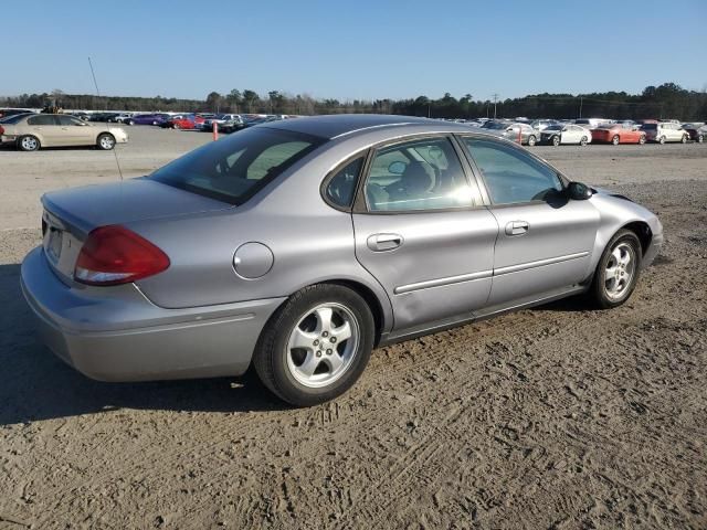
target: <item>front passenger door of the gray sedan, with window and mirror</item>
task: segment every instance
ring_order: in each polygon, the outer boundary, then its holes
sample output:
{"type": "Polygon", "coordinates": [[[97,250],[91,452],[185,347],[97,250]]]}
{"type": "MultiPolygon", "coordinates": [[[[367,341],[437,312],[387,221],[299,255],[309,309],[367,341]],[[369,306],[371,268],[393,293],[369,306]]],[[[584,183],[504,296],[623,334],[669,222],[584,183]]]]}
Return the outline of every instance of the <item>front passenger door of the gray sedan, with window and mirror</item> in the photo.
{"type": "Polygon", "coordinates": [[[526,149],[463,137],[499,226],[488,306],[538,298],[588,279],[599,212],[569,200],[551,167],[526,149]]]}

